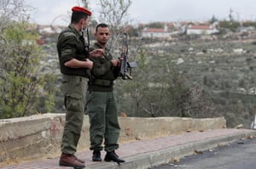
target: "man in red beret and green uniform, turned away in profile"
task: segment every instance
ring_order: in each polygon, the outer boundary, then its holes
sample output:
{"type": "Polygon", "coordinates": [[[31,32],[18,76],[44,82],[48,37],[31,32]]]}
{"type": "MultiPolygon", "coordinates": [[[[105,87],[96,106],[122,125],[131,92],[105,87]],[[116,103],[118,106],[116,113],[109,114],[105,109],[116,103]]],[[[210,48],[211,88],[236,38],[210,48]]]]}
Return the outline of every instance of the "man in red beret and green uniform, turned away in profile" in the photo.
{"type": "MultiPolygon", "coordinates": [[[[87,8],[73,7],[71,23],[61,31],[57,41],[62,82],[61,92],[66,106],[66,122],[61,141],[60,166],[84,168],[84,161],[74,154],[77,151],[84,120],[85,93],[88,76],[86,70],[93,67],[88,58],[100,57],[103,50],[96,49],[89,53],[84,42],[83,31],[86,30],[91,12],[87,8]],[[85,28],[85,29],[84,29],[85,28]]],[[[89,43],[89,42],[88,42],[89,43]]]]}

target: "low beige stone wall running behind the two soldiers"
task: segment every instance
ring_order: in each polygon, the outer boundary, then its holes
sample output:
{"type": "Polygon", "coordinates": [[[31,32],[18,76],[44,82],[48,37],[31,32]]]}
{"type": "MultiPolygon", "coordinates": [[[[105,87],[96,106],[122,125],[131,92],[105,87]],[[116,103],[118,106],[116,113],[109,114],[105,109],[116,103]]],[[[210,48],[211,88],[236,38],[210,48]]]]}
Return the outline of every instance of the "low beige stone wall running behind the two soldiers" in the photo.
{"type": "MultiPolygon", "coordinates": [[[[224,118],[192,119],[179,117],[119,117],[119,143],[156,138],[181,132],[223,128],[224,118]]],[[[61,154],[61,136],[65,114],[44,114],[0,120],[1,164],[52,158],[61,154]]],[[[78,150],[89,148],[89,119],[84,126],[78,150]]]]}

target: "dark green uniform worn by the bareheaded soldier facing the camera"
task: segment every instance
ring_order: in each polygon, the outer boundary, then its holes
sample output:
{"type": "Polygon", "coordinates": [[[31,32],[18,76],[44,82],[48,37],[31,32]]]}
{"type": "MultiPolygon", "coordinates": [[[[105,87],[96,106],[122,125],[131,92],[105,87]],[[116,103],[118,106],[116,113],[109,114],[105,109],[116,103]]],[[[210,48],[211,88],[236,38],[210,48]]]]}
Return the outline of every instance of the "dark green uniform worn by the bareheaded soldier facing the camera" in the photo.
{"type": "MultiPolygon", "coordinates": [[[[93,48],[102,48],[95,43],[93,48]]],[[[86,93],[86,108],[90,117],[90,149],[110,152],[119,148],[119,122],[116,101],[113,96],[113,81],[118,75],[118,67],[113,67],[113,57],[105,48],[105,55],[92,58],[90,82],[86,93]]]]}

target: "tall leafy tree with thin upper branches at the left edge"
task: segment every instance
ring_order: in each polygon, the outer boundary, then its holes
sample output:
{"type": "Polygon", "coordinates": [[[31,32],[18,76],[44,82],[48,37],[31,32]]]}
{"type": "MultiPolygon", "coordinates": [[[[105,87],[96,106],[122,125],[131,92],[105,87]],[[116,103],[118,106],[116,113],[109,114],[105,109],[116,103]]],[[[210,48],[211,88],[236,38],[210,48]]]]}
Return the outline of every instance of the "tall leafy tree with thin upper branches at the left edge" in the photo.
{"type": "Polygon", "coordinates": [[[38,73],[43,55],[37,43],[38,34],[28,23],[23,1],[3,0],[0,5],[0,118],[32,115],[40,95],[45,94],[47,82],[38,73]]]}

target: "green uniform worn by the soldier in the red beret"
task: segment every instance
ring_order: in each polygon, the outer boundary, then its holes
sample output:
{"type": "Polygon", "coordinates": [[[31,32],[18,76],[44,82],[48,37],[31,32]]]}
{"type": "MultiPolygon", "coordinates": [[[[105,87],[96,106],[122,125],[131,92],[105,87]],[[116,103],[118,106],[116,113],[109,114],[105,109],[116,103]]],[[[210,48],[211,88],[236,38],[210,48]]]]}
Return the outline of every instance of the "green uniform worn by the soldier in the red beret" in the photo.
{"type": "Polygon", "coordinates": [[[61,151],[68,155],[73,155],[77,150],[84,120],[84,99],[87,85],[85,69],[75,69],[64,65],[70,59],[86,59],[84,44],[79,38],[81,38],[81,33],[72,25],[68,25],[67,29],[59,35],[57,42],[61,73],[63,74],[61,92],[64,94],[67,108],[61,151]]]}

